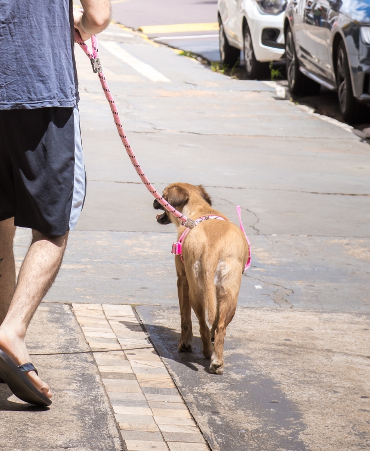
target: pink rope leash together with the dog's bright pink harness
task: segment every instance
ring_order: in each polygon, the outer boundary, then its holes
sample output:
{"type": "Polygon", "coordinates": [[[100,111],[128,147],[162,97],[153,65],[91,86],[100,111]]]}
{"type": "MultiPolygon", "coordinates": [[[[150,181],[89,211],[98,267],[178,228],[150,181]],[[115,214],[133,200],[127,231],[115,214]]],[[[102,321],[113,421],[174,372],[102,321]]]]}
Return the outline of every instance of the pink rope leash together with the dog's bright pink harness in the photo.
{"type": "MultiPolygon", "coordinates": [[[[172,254],[180,255],[181,260],[182,260],[182,252],[181,252],[182,251],[182,243],[183,243],[186,235],[190,232],[191,229],[194,229],[194,227],[197,224],[199,224],[199,222],[202,222],[202,221],[207,220],[207,219],[222,219],[222,220],[226,220],[226,219],[224,219],[221,216],[210,215],[210,216],[200,217],[200,218],[198,218],[197,220],[194,221],[193,219],[190,219],[190,218],[184,216],[182,213],[180,213],[180,211],[177,211],[176,208],[174,208],[172,205],[170,205],[167,202],[167,200],[165,200],[159,194],[159,192],[150,183],[150,181],[148,180],[148,178],[144,174],[143,170],[141,169],[140,164],[139,164],[139,162],[138,162],[138,160],[137,160],[137,158],[136,158],[136,156],[135,156],[135,154],[134,154],[134,152],[133,152],[133,150],[132,150],[132,148],[130,146],[130,143],[129,143],[127,137],[126,137],[125,131],[124,131],[123,127],[122,127],[122,123],[121,123],[120,116],[118,114],[116,103],[115,103],[115,101],[113,99],[111,91],[109,90],[108,83],[107,83],[107,80],[105,79],[104,72],[103,72],[103,69],[102,69],[102,65],[100,63],[99,50],[98,50],[98,40],[97,40],[96,35],[93,35],[91,37],[91,45],[93,47],[93,52],[92,53],[90,52],[89,47],[82,40],[82,38],[80,36],[80,33],[77,30],[75,30],[75,41],[77,42],[77,44],[79,44],[81,49],[89,57],[91,65],[93,67],[94,73],[95,74],[97,73],[98,76],[99,76],[100,83],[102,85],[105,97],[108,100],[109,106],[111,107],[114,123],[116,124],[118,134],[120,135],[122,144],[125,146],[126,152],[127,152],[128,156],[131,159],[131,163],[133,164],[136,172],[138,173],[139,177],[141,178],[141,181],[147,187],[148,191],[150,193],[152,193],[152,195],[158,200],[158,202],[164,208],[166,208],[167,211],[169,211],[175,217],[179,218],[181,220],[181,224],[184,225],[187,228],[184,231],[184,233],[181,235],[179,241],[177,243],[173,243],[173,245],[172,245],[172,254]]],[[[238,213],[238,216],[239,216],[240,229],[243,231],[243,233],[245,235],[243,224],[241,222],[240,206],[237,206],[236,210],[237,210],[237,213],[238,213]]],[[[245,265],[244,271],[249,268],[249,266],[250,266],[250,257],[251,257],[250,243],[249,243],[248,237],[246,235],[245,235],[245,238],[246,238],[247,243],[248,243],[249,257],[248,257],[247,264],[245,265]]]]}

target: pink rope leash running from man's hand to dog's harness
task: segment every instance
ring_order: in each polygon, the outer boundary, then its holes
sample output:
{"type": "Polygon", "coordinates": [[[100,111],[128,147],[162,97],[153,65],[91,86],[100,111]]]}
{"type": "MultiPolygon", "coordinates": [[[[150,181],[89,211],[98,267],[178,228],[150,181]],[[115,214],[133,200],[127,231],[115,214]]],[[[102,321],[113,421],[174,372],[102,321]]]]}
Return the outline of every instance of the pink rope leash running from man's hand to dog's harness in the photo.
{"type": "Polygon", "coordinates": [[[177,211],[176,208],[174,208],[172,205],[170,205],[160,194],[159,192],[154,188],[154,186],[150,183],[147,176],[144,174],[143,170],[140,167],[140,164],[130,146],[130,143],[126,137],[125,131],[122,127],[122,123],[120,120],[120,116],[118,114],[118,110],[116,107],[116,103],[113,99],[113,96],[111,94],[111,91],[109,90],[107,80],[104,76],[104,72],[102,69],[102,66],[100,64],[99,59],[99,50],[98,50],[98,40],[96,35],[93,35],[91,37],[91,44],[93,47],[93,52],[91,53],[89,47],[85,44],[85,42],[82,40],[80,33],[75,30],[75,41],[81,49],[86,53],[86,55],[89,57],[91,65],[93,66],[94,73],[98,73],[100,83],[102,85],[104,94],[106,99],[109,102],[109,106],[111,107],[111,111],[113,114],[114,123],[116,124],[118,134],[120,135],[122,144],[125,146],[126,152],[128,156],[131,159],[131,163],[133,164],[136,172],[138,173],[139,177],[141,178],[141,181],[144,183],[144,185],[147,187],[148,191],[152,193],[152,195],[158,200],[158,202],[166,208],[167,211],[169,211],[171,214],[173,214],[175,217],[179,218],[181,220],[181,224],[189,229],[193,229],[196,225],[196,222],[193,219],[187,218],[184,216],[180,211],[177,211]]]}

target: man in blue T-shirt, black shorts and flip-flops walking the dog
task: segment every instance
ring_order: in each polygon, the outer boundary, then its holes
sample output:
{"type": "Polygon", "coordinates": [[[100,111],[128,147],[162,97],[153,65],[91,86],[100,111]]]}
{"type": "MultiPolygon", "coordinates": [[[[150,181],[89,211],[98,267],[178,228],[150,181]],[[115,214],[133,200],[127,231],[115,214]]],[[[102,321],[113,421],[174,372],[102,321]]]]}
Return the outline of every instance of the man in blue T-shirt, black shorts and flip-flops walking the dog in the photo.
{"type": "MultiPolygon", "coordinates": [[[[81,4],[83,13],[73,12],[72,0],[0,0],[0,376],[6,382],[7,357],[17,366],[30,362],[28,325],[58,274],[85,199],[74,28],[86,41],[108,26],[111,9],[109,0],[81,4]],[[16,285],[17,225],[32,229],[33,238],[16,285]]],[[[15,369],[31,388],[50,399],[33,365],[21,366],[24,373],[15,369]]]]}

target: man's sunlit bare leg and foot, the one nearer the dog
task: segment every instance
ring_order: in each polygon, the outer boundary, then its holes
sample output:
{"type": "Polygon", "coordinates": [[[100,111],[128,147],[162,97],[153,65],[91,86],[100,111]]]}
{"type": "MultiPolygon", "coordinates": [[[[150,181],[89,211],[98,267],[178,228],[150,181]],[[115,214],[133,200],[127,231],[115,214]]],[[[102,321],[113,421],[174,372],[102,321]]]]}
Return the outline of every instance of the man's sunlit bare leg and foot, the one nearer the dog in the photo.
{"type": "MultiPolygon", "coordinates": [[[[17,365],[31,361],[25,343],[27,328],[58,274],[68,238],[68,233],[63,237],[32,233],[33,240],[21,267],[8,314],[0,326],[0,349],[17,365]]],[[[35,371],[27,374],[38,390],[52,397],[49,385],[35,371]]]]}

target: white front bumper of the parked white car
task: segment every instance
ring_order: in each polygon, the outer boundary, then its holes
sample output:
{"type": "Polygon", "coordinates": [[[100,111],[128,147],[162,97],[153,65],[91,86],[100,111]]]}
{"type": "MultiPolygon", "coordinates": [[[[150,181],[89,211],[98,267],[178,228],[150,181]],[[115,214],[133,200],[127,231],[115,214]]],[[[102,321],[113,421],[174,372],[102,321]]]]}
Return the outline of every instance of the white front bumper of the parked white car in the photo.
{"type": "Polygon", "coordinates": [[[277,61],[284,54],[284,12],[278,16],[262,14],[253,1],[246,5],[245,12],[252,36],[254,55],[258,61],[277,61]],[[265,30],[265,31],[264,31],[265,30]],[[275,30],[276,36],[268,39],[266,30],[275,30]],[[267,38],[267,39],[266,39],[267,38]]]}

